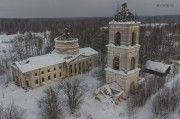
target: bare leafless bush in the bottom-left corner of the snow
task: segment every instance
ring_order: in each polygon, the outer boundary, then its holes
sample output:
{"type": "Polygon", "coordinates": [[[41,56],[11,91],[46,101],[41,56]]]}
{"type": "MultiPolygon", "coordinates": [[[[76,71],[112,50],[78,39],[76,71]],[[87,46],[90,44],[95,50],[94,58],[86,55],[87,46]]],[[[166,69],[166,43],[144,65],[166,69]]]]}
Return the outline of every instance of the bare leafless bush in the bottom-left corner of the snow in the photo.
{"type": "Polygon", "coordinates": [[[4,109],[2,119],[25,119],[25,111],[11,103],[4,109]]]}

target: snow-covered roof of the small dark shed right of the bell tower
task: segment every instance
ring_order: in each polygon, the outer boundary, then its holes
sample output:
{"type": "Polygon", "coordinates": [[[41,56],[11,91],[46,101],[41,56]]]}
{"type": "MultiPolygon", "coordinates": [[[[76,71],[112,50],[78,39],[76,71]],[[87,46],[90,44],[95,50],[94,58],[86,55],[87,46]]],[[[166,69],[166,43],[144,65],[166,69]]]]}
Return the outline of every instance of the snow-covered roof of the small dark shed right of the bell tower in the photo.
{"type": "Polygon", "coordinates": [[[148,60],[146,62],[145,68],[152,70],[152,71],[156,71],[156,72],[160,72],[160,73],[166,73],[167,69],[170,67],[170,65],[161,63],[161,62],[154,62],[151,60],[148,60]]]}

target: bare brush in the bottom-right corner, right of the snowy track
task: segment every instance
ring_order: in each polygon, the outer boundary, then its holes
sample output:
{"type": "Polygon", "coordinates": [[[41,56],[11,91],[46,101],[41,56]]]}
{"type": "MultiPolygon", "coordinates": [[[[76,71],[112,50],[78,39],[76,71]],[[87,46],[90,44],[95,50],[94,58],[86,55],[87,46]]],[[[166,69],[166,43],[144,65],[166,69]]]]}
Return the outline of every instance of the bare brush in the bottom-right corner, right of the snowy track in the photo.
{"type": "Polygon", "coordinates": [[[169,118],[171,113],[174,113],[180,104],[180,85],[177,82],[173,83],[171,88],[165,87],[156,95],[152,101],[153,118],[169,118]]]}

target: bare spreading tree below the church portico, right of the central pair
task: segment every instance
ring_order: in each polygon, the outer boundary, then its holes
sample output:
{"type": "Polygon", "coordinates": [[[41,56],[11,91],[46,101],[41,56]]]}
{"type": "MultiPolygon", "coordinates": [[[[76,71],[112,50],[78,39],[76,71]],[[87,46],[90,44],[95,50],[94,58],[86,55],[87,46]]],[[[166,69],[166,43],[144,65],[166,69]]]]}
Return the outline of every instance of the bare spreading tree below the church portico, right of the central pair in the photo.
{"type": "Polygon", "coordinates": [[[83,101],[84,93],[82,91],[82,87],[80,86],[80,80],[73,79],[61,81],[59,88],[62,89],[68,97],[69,107],[71,113],[73,114],[83,101]]]}

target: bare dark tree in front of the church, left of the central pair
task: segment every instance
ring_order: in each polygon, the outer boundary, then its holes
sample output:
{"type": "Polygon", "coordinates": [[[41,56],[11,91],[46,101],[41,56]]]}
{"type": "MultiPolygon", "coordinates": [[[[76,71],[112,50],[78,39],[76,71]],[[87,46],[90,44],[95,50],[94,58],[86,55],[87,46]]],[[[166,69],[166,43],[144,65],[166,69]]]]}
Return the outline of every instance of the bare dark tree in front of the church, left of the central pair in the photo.
{"type": "Polygon", "coordinates": [[[43,92],[38,101],[40,116],[42,119],[61,119],[59,90],[51,86],[43,92]]]}

